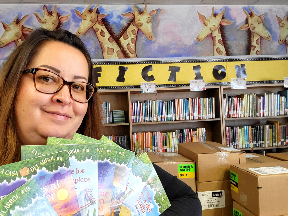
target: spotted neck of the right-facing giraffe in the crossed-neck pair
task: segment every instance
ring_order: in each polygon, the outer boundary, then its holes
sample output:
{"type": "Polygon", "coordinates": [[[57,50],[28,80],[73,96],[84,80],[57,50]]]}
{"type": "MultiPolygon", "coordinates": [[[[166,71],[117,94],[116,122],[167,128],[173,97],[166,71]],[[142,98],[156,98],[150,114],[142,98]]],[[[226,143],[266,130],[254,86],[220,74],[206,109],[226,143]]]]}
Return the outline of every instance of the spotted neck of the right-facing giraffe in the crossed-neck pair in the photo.
{"type": "Polygon", "coordinates": [[[127,52],[129,58],[137,58],[136,55],[136,38],[138,33],[138,28],[136,27],[134,20],[124,32],[119,42],[127,52]]]}

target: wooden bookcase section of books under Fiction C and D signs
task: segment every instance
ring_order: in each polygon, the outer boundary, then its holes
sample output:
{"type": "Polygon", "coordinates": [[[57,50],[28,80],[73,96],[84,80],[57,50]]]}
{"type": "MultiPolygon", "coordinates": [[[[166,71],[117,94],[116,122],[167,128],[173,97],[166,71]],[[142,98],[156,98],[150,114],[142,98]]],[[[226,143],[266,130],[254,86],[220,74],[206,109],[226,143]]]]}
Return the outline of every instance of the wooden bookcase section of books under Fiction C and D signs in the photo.
{"type": "Polygon", "coordinates": [[[182,142],[224,142],[220,86],[198,92],[189,87],[157,88],[153,94],[140,89],[99,92],[105,135],[127,136],[127,146],[136,152],[177,152],[182,142]],[[124,110],[124,123],[113,123],[114,110],[124,110]],[[120,127],[107,127],[113,125],[120,127]]]}

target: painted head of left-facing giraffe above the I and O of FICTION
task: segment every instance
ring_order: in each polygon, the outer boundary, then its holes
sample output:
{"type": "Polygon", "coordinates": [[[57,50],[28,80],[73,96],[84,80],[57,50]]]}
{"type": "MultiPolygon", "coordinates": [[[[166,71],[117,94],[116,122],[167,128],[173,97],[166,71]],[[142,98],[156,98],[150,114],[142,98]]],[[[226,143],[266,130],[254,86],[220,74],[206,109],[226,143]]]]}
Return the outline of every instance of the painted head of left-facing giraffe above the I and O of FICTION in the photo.
{"type": "Polygon", "coordinates": [[[214,13],[214,7],[213,7],[211,16],[207,19],[204,15],[197,12],[199,16],[199,20],[203,24],[203,28],[200,34],[196,38],[197,42],[203,41],[209,34],[217,30],[219,25],[230,25],[233,23],[232,21],[228,19],[222,19],[225,10],[226,9],[224,9],[221,13],[217,14],[217,13],[214,13]]]}

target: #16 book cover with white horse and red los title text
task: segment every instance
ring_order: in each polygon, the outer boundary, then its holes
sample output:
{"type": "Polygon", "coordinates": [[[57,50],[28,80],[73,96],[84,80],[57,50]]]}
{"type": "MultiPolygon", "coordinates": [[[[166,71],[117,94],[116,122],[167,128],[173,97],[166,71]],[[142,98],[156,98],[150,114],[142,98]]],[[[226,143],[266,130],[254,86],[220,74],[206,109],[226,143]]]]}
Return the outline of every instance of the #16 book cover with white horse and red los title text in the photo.
{"type": "Polygon", "coordinates": [[[98,212],[97,144],[22,146],[21,160],[68,151],[81,216],[98,212]]]}

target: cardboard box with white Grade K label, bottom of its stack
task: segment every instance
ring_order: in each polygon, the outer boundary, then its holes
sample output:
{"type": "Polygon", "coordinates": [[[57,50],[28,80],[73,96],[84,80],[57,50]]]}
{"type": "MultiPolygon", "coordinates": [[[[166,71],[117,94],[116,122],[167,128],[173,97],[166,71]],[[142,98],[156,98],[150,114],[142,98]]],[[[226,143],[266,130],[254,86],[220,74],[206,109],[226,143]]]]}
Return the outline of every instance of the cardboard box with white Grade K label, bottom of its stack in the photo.
{"type": "Polygon", "coordinates": [[[197,194],[202,204],[202,216],[228,216],[233,212],[230,181],[197,182],[197,194]]]}

